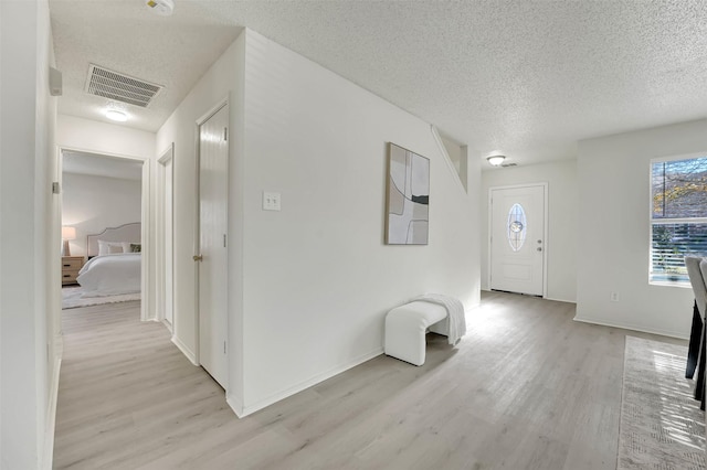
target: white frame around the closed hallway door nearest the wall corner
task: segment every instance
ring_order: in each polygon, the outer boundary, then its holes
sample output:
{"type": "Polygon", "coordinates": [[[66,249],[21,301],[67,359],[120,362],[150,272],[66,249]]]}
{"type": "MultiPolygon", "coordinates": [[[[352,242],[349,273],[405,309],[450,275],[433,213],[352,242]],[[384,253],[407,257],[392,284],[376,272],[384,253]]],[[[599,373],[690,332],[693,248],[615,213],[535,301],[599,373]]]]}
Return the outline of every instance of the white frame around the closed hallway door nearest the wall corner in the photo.
{"type": "MultiPolygon", "coordinates": [[[[194,199],[196,199],[196,204],[194,204],[194,245],[193,245],[193,254],[194,256],[200,254],[201,250],[201,188],[200,188],[200,178],[201,178],[201,126],[208,121],[211,117],[213,117],[213,115],[215,115],[217,113],[219,113],[219,110],[221,110],[222,107],[230,105],[229,102],[229,96],[226,95],[224,98],[222,98],[221,100],[219,100],[214,106],[212,106],[207,113],[204,113],[199,119],[197,119],[197,121],[194,122],[194,148],[196,148],[196,159],[194,159],[194,183],[196,183],[196,188],[197,191],[194,192],[194,199]]],[[[230,119],[229,119],[230,121],[230,119]]],[[[230,126],[229,126],[229,133],[231,132],[230,130],[230,126]]],[[[231,136],[229,135],[229,139],[231,138],[231,136]]],[[[229,149],[231,145],[229,143],[229,149]]],[[[230,150],[229,150],[230,153],[230,150]]],[[[230,165],[229,165],[229,171],[230,170],[230,165]]],[[[226,204],[228,204],[228,194],[226,194],[226,204]]],[[[228,212],[226,212],[228,213],[228,212]]],[[[228,248],[226,248],[228,249],[228,248]]],[[[193,264],[193,268],[194,268],[194,361],[197,364],[201,364],[201,357],[200,357],[200,351],[201,351],[201,328],[200,328],[200,323],[199,323],[199,263],[194,259],[194,264],[193,264]]],[[[228,268],[226,268],[226,275],[228,275],[228,268]]],[[[228,299],[226,299],[228,302],[228,299]]],[[[229,324],[229,318],[226,314],[226,344],[228,344],[228,351],[229,354],[226,354],[225,356],[225,361],[226,361],[226,377],[225,377],[225,394],[226,396],[229,395],[229,386],[228,384],[230,383],[230,375],[231,375],[231,340],[230,340],[230,329],[228,328],[229,324]]]]}

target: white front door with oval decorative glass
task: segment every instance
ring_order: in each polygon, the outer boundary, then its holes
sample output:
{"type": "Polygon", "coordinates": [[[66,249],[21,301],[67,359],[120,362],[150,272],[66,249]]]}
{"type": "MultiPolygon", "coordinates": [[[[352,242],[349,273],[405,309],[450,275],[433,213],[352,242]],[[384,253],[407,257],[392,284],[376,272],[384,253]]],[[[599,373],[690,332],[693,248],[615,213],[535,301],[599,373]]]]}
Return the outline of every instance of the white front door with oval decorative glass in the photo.
{"type": "Polygon", "coordinates": [[[490,189],[490,288],[544,295],[545,184],[490,189]]]}

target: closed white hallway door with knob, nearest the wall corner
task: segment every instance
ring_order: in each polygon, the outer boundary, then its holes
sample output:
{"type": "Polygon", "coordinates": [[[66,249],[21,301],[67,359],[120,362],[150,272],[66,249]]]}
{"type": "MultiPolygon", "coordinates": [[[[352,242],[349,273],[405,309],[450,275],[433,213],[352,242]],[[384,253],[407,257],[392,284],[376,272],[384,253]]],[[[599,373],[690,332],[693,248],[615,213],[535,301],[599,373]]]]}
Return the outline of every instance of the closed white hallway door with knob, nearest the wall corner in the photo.
{"type": "Polygon", "coordinates": [[[199,127],[199,362],[226,386],[229,107],[199,127]],[[200,257],[200,258],[199,258],[200,257]]]}

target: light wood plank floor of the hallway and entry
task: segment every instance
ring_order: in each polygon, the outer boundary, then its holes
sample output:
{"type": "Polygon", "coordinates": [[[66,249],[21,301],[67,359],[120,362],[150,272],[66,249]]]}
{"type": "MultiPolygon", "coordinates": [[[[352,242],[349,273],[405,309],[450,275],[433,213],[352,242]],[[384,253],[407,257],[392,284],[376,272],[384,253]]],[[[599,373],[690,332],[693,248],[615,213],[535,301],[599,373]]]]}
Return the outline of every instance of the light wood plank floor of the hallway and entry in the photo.
{"type": "Polygon", "coordinates": [[[457,348],[381,355],[246,418],[139,303],[64,311],[57,469],[615,469],[624,337],[483,292],[457,348]]]}

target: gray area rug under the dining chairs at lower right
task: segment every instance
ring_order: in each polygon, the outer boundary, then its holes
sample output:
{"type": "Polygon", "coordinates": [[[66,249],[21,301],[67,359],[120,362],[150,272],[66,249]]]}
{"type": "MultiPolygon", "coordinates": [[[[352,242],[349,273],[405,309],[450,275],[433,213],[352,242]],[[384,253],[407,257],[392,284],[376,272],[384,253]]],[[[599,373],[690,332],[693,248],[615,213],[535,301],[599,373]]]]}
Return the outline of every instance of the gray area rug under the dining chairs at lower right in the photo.
{"type": "Polygon", "coordinates": [[[705,469],[705,414],[687,348],[626,337],[618,469],[705,469]]]}

